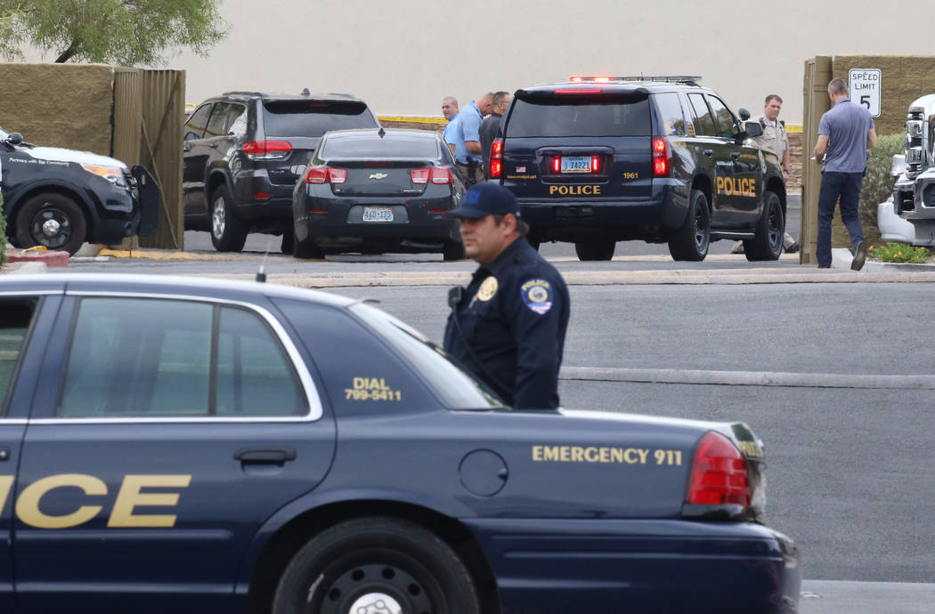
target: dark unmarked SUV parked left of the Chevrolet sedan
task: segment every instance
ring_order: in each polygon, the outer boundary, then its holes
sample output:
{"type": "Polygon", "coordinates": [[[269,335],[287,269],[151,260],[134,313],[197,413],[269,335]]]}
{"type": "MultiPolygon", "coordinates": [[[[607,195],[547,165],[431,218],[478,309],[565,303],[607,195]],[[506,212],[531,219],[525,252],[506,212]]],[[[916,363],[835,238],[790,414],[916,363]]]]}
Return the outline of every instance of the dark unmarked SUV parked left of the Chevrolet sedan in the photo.
{"type": "Polygon", "coordinates": [[[282,235],[293,250],[292,193],[329,130],[376,128],[351,95],[228,92],[195,108],[183,128],[185,229],[208,230],[219,251],[247,234],[282,235]]]}

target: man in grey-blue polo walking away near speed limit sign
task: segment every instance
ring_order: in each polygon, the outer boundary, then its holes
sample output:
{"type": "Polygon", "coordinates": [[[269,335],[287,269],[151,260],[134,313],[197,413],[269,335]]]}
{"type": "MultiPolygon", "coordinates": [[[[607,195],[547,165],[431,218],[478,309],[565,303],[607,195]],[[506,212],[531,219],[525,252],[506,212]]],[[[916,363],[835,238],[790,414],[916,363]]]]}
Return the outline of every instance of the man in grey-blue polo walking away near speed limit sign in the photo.
{"type": "Polygon", "coordinates": [[[827,84],[831,109],[818,123],[815,162],[822,166],[821,190],[818,193],[818,245],[815,256],[819,268],[831,266],[831,219],[834,204],[841,197],[841,221],[854,244],[851,268],[859,271],[867,258],[864,230],[857,218],[860,185],[867,168],[867,150],[876,147],[876,130],[870,111],[851,102],[843,79],[827,84]]]}

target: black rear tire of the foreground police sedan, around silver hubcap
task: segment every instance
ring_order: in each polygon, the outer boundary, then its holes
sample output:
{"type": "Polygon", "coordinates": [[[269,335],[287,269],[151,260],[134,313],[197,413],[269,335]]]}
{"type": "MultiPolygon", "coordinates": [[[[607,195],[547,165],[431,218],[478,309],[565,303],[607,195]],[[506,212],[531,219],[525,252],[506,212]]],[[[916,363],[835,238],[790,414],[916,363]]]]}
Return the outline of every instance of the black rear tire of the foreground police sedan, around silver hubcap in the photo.
{"type": "Polygon", "coordinates": [[[468,568],[438,535],[410,521],[361,518],[324,530],[295,554],[272,613],[343,614],[367,593],[388,594],[404,612],[481,612],[468,568]]]}

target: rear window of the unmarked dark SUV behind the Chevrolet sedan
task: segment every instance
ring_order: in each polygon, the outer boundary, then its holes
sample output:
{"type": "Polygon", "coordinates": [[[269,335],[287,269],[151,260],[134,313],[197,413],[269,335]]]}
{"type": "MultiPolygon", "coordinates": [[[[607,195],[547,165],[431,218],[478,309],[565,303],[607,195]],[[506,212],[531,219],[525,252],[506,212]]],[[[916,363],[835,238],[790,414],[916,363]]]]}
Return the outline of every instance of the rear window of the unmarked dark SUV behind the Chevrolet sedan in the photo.
{"type": "Polygon", "coordinates": [[[266,136],[322,136],[329,130],[376,128],[362,102],[270,100],[263,103],[266,136]]]}

